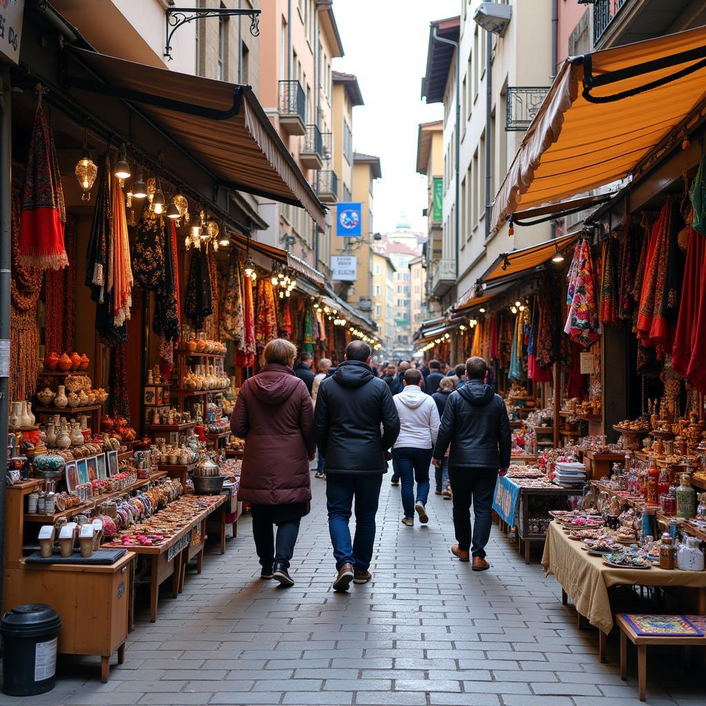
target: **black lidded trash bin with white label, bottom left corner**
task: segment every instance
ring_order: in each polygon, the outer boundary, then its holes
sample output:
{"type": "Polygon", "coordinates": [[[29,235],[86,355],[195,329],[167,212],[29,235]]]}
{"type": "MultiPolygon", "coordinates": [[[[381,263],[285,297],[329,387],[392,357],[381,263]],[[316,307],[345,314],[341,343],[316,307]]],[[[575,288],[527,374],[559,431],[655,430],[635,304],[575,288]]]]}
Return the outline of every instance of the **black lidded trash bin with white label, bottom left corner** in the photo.
{"type": "Polygon", "coordinates": [[[17,606],[2,616],[2,689],[34,696],[54,688],[61,618],[42,603],[17,606]]]}

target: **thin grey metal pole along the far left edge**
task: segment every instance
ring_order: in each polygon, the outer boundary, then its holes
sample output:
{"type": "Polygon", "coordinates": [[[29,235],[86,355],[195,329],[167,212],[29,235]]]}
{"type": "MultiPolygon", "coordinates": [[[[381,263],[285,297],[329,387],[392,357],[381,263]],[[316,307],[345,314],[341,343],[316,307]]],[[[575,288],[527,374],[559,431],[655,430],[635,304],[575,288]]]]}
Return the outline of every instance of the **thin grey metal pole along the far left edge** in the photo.
{"type": "MultiPolygon", "coordinates": [[[[12,116],[11,116],[10,69],[2,70],[2,92],[0,95],[0,438],[7,449],[9,409],[9,361],[10,361],[10,288],[12,263],[12,116]]],[[[7,450],[5,457],[7,468],[7,450]]],[[[5,491],[6,471],[0,471],[0,532],[5,537],[5,491]]],[[[5,575],[5,543],[0,541],[0,571],[5,575]]],[[[3,581],[0,580],[0,606],[3,599],[3,581]]]]}

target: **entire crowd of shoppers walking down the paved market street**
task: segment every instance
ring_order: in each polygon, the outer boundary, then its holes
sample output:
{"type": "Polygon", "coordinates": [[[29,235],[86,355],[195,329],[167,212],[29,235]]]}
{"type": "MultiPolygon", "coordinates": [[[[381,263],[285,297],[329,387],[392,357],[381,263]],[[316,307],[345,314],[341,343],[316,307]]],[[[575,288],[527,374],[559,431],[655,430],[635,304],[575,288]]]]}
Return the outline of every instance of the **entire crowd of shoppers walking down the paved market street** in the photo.
{"type": "Polygon", "coordinates": [[[240,390],[231,421],[245,440],[239,498],[251,504],[263,579],[294,585],[289,563],[309,512],[309,462],[317,450],[334,590],[372,578],[375,517],[390,460],[391,483],[402,486],[402,524],[414,527],[415,513],[429,522],[433,463],[436,494],[453,499],[452,553],[472,560],[474,571],[490,566],[484,548],[496,479],[510,462],[510,425],[486,362],[473,357],[455,368],[438,360],[387,362],[378,372],[371,355],[368,344],[354,340],[340,364],[323,358],[314,373],[309,352],[297,358],[292,343],[275,339],[265,346],[261,370],[240,390]]]}

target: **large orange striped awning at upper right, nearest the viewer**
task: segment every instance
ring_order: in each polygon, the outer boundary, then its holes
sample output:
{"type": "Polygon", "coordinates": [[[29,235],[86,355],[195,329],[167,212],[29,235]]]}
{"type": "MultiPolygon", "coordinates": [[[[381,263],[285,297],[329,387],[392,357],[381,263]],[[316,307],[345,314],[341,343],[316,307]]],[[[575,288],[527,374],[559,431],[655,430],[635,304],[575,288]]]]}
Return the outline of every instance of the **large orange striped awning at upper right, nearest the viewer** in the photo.
{"type": "Polygon", "coordinates": [[[702,107],[706,27],[569,57],[493,203],[492,231],[515,211],[636,174],[702,107]],[[582,90],[581,90],[582,86],[582,90]]]}

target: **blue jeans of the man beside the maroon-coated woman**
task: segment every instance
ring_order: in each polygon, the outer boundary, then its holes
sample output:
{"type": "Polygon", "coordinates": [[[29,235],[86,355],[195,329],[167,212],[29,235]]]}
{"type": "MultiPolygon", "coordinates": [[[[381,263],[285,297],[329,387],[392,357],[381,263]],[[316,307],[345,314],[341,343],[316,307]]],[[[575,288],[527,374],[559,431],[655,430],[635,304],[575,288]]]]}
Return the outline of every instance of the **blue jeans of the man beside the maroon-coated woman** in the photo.
{"type": "Polygon", "coordinates": [[[375,515],[378,511],[383,474],[326,474],[328,531],[333,544],[336,568],[345,563],[354,571],[366,571],[373,558],[375,515]],[[355,498],[355,539],[351,544],[348,521],[355,498]]]}

